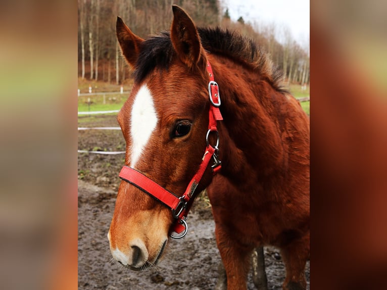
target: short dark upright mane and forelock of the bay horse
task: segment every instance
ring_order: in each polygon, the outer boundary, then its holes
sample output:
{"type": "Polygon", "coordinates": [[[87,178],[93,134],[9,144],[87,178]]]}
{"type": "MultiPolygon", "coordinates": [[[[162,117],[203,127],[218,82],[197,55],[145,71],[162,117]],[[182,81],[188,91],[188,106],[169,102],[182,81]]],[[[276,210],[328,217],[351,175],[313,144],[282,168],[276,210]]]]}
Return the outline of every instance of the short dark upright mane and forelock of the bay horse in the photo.
{"type": "MultiPolygon", "coordinates": [[[[242,36],[234,30],[219,27],[198,28],[198,32],[207,52],[246,63],[254,71],[266,77],[275,89],[286,91],[281,83],[282,72],[253,39],[242,36]]],[[[133,72],[135,81],[142,81],[156,67],[168,69],[174,56],[169,32],[164,31],[148,37],[141,44],[136,69],[133,72]]]]}

